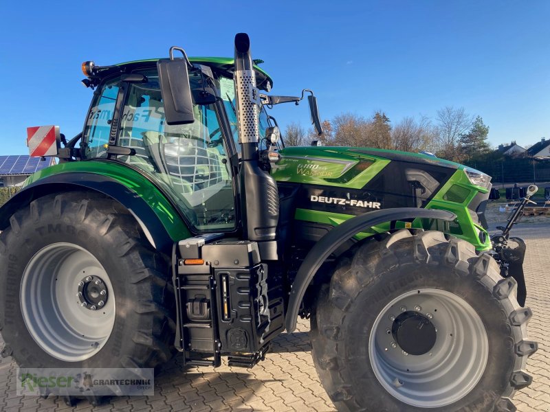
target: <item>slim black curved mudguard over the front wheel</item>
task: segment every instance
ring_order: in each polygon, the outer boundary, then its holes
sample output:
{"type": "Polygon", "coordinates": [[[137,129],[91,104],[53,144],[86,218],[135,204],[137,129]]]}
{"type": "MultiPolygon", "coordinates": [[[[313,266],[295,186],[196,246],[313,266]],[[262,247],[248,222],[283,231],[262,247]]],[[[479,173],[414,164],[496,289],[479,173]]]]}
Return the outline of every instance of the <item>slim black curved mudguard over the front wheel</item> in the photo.
{"type": "Polygon", "coordinates": [[[447,210],[418,209],[416,207],[375,210],[346,220],[323,236],[305,257],[298,269],[294,284],[292,284],[285,317],[287,332],[293,332],[296,329],[298,311],[300,310],[300,303],[305,295],[305,291],[331,253],[336,251],[344,242],[369,227],[386,222],[415,218],[454,220],[456,215],[447,210]]]}

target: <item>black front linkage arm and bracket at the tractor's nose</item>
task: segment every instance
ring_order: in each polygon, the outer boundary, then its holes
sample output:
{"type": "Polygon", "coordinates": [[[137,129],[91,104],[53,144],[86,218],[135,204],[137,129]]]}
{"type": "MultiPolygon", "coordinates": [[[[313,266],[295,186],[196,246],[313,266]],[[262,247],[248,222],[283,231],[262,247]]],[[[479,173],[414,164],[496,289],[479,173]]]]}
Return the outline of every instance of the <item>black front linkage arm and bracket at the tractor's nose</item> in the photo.
{"type": "MultiPolygon", "coordinates": [[[[531,201],[531,196],[536,194],[538,187],[529,185],[527,194],[521,199],[520,204],[514,209],[508,218],[508,223],[505,227],[498,226],[496,229],[502,231],[491,236],[493,249],[491,254],[500,266],[500,275],[503,277],[514,277],[518,282],[518,304],[525,306],[525,298],[527,297],[527,287],[525,286],[525,275],[523,274],[523,260],[525,258],[525,241],[521,238],[510,238],[511,228],[518,223],[523,216],[523,209],[527,203],[535,203],[531,201]],[[509,241],[516,243],[515,247],[509,245],[509,241]]],[[[536,203],[535,203],[536,204],[536,203]]]]}

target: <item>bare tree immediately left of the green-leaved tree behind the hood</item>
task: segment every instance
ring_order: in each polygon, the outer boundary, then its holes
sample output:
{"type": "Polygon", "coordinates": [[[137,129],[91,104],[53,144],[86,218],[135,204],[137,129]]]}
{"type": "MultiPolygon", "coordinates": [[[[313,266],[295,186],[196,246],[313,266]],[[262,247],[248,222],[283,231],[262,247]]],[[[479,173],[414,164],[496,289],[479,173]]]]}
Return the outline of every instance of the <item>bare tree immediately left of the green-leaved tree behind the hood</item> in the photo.
{"type": "Polygon", "coordinates": [[[472,126],[472,117],[464,108],[446,106],[437,111],[440,150],[437,153],[444,159],[460,161],[461,150],[459,139],[472,126]]]}

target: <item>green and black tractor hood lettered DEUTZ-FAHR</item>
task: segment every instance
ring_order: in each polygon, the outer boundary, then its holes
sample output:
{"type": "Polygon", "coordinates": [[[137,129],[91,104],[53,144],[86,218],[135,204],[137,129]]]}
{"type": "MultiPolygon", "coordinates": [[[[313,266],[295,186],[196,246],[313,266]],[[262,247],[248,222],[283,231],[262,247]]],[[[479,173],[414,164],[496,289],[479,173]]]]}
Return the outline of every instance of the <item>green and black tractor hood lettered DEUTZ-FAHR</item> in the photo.
{"type": "MultiPolygon", "coordinates": [[[[491,178],[478,170],[430,155],[373,148],[293,147],[280,154],[272,176],[281,209],[302,222],[298,233],[307,234],[304,242],[316,242],[330,227],[369,211],[426,207],[459,216],[445,227],[437,222],[426,227],[463,238],[478,250],[490,247],[484,211],[491,178]]],[[[424,227],[417,220],[399,225],[394,229],[424,227]]],[[[389,224],[376,230],[388,229],[389,224]]]]}

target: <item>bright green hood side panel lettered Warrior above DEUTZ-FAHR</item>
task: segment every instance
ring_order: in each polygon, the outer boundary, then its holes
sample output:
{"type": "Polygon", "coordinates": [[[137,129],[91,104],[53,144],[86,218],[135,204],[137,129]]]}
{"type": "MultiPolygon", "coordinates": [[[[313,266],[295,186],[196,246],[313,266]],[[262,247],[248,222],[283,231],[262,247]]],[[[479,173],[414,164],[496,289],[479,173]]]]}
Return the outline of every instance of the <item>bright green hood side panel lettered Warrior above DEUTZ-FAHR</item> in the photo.
{"type": "Polygon", "coordinates": [[[281,160],[272,170],[276,181],[352,189],[366,185],[390,163],[382,157],[362,155],[342,148],[285,148],[280,154],[281,160]]]}

